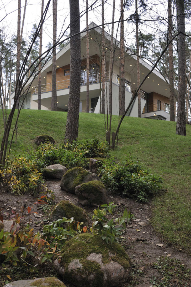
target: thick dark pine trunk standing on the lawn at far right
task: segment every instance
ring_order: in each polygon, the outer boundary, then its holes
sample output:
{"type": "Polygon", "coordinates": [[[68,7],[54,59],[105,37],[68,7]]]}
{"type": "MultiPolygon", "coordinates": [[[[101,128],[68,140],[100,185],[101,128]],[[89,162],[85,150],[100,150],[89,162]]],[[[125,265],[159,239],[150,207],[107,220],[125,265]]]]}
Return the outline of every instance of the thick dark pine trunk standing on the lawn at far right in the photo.
{"type": "Polygon", "coordinates": [[[185,95],[186,95],[186,49],[185,49],[185,13],[184,0],[176,0],[177,28],[178,35],[178,108],[176,134],[186,135],[186,113],[185,113],[185,95]]]}

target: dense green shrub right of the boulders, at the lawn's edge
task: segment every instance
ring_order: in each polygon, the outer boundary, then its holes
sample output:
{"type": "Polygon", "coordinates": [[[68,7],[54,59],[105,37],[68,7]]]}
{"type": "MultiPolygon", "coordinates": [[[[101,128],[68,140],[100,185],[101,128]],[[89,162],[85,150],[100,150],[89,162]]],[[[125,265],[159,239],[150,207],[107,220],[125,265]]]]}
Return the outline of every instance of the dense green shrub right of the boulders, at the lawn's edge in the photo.
{"type": "Polygon", "coordinates": [[[139,201],[147,201],[161,189],[161,177],[143,170],[139,162],[125,160],[115,163],[111,160],[99,168],[100,176],[106,187],[113,192],[128,197],[135,197],[139,201]]]}

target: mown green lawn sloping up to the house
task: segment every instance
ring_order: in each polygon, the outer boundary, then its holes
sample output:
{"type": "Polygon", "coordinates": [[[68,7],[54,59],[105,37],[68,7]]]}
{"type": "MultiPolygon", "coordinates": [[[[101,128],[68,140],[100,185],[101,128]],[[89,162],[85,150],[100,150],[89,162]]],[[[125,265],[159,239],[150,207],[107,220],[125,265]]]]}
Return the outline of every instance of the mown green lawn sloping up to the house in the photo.
{"type": "MultiPolygon", "coordinates": [[[[34,138],[40,134],[51,135],[56,144],[63,143],[66,120],[65,112],[22,110],[17,144],[13,143],[11,147],[12,155],[30,152],[36,147],[34,138]]],[[[112,131],[116,130],[117,124],[118,117],[113,116],[112,131]]],[[[167,191],[153,199],[153,227],[169,243],[190,252],[191,126],[186,126],[186,137],[176,135],[175,131],[174,122],[125,117],[118,148],[111,151],[111,155],[116,159],[131,156],[135,161],[138,158],[151,172],[161,174],[167,191]]],[[[105,140],[104,115],[81,113],[79,139],[92,137],[105,140]]]]}

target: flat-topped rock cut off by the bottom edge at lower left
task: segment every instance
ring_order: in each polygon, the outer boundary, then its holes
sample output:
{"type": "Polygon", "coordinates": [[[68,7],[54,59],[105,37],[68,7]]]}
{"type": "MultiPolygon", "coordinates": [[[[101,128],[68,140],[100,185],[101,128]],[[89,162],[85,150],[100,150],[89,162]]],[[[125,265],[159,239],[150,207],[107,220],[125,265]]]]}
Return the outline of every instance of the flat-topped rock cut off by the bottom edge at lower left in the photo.
{"type": "Polygon", "coordinates": [[[35,278],[10,282],[3,287],[66,287],[66,285],[55,277],[35,278]]]}

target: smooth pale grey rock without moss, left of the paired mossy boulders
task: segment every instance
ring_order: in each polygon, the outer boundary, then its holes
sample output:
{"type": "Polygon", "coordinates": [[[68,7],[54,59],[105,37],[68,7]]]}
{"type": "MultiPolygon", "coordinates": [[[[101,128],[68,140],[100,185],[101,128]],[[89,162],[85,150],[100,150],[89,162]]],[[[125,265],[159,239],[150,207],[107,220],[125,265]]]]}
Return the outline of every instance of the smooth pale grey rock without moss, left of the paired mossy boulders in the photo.
{"type": "Polygon", "coordinates": [[[46,179],[61,179],[67,170],[68,169],[61,164],[51,164],[44,168],[42,174],[46,179]]]}

